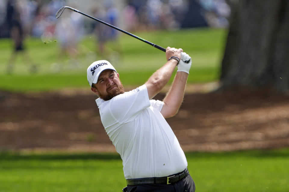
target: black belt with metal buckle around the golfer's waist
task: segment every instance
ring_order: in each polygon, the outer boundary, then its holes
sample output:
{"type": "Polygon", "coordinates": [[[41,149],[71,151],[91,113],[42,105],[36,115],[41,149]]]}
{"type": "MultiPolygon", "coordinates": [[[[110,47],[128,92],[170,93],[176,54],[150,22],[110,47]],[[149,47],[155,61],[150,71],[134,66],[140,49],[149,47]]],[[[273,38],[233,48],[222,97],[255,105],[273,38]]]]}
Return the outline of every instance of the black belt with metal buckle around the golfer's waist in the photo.
{"type": "Polygon", "coordinates": [[[150,177],[150,178],[139,178],[139,179],[126,179],[128,185],[141,185],[141,184],[171,184],[178,182],[189,174],[186,168],[183,172],[167,177],[150,177]]]}

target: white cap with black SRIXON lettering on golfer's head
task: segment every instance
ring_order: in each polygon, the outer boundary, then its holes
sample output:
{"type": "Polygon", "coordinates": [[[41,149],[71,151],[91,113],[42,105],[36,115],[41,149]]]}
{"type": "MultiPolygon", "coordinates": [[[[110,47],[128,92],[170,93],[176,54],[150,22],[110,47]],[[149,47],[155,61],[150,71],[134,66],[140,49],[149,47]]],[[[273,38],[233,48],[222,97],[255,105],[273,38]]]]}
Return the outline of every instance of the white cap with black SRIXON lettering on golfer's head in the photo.
{"type": "MultiPolygon", "coordinates": [[[[106,69],[115,70],[112,64],[110,64],[110,62],[106,60],[95,61],[91,65],[89,65],[89,67],[87,68],[87,80],[89,82],[89,85],[92,86],[92,83],[96,83],[100,73],[106,69]]],[[[117,70],[115,70],[115,72],[117,72],[117,70]]]]}

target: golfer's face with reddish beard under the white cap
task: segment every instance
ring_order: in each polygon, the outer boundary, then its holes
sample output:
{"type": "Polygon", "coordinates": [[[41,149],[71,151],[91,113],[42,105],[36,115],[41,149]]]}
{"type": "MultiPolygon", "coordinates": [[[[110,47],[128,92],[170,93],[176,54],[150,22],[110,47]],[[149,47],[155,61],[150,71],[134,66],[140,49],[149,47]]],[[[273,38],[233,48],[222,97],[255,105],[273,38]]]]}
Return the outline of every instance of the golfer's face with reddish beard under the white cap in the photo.
{"type": "Polygon", "coordinates": [[[102,71],[98,76],[97,83],[91,89],[105,101],[124,93],[119,74],[111,69],[102,71]]]}

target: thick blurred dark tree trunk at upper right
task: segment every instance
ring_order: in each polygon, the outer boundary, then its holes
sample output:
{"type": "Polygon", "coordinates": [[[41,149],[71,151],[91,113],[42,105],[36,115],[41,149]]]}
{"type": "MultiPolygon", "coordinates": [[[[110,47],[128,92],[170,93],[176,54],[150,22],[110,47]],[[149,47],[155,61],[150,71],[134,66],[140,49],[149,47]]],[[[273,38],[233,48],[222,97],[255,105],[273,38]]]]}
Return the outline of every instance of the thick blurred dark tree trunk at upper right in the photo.
{"type": "Polygon", "coordinates": [[[228,0],[232,12],[221,81],[289,90],[289,0],[228,0]]]}

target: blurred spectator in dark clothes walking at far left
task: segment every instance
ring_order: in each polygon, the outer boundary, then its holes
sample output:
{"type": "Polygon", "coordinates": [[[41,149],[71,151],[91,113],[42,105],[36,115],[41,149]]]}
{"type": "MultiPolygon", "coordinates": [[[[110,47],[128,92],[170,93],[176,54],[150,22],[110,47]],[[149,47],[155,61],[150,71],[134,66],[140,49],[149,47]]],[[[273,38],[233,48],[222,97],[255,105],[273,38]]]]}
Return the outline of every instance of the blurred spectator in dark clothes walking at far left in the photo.
{"type": "Polygon", "coordinates": [[[32,61],[32,59],[25,50],[25,46],[23,45],[25,34],[23,32],[23,26],[20,19],[21,17],[19,11],[19,4],[17,4],[18,2],[19,1],[16,0],[7,1],[6,22],[8,23],[10,37],[12,38],[14,43],[13,52],[10,56],[10,59],[8,60],[7,72],[12,73],[16,56],[18,55],[19,52],[21,52],[24,61],[26,61],[26,63],[31,65],[30,72],[34,73],[37,71],[37,66],[32,61]]]}

